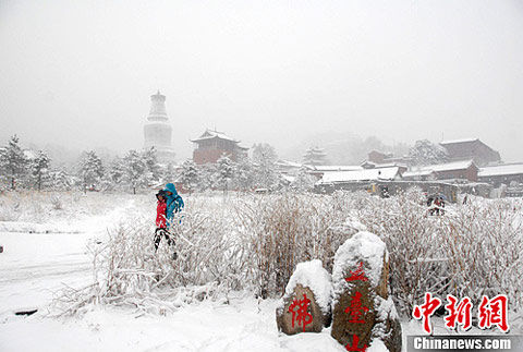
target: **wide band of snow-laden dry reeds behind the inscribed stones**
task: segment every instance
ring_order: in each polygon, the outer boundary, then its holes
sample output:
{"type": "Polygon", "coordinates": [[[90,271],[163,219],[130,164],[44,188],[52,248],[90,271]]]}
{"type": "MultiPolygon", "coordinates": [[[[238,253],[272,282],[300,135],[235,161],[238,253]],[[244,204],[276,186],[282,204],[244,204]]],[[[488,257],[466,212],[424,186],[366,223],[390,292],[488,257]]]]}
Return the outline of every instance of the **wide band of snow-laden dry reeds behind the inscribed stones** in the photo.
{"type": "MultiPolygon", "coordinates": [[[[390,254],[391,291],[410,315],[426,291],[445,298],[504,293],[523,305],[523,203],[475,198],[429,216],[421,192],[186,198],[174,233],[178,259],[162,241],[154,253],[154,205],[126,213],[94,244],[96,284],[76,302],[174,309],[232,290],[280,296],[296,265],[318,258],[330,272],[336,250],[355,232],[379,235],[390,254]]],[[[71,293],[71,292],[70,292],[71,293]]],[[[76,311],[73,309],[73,311],[76,311]]]]}

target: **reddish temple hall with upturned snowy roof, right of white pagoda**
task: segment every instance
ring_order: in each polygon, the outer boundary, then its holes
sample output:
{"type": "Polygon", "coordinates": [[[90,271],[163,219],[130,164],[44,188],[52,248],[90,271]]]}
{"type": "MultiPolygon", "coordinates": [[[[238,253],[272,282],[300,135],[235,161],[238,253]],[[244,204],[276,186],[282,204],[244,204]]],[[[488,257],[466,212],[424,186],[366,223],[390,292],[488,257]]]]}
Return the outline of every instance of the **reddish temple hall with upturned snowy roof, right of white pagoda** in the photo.
{"type": "Polygon", "coordinates": [[[191,142],[196,144],[193,151],[193,161],[196,165],[214,163],[223,155],[233,161],[239,161],[246,157],[248,150],[239,145],[240,141],[212,130],[206,130],[204,134],[191,142]]]}

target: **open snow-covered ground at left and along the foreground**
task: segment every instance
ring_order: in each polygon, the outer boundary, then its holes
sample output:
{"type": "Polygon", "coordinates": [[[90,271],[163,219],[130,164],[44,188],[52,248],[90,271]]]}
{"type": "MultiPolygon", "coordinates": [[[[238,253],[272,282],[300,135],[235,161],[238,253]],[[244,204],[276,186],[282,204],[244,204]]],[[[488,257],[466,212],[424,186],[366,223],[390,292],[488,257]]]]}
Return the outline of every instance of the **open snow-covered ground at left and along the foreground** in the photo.
{"type": "MultiPolygon", "coordinates": [[[[52,317],[48,306],[60,289],[93,282],[87,243],[104,241],[114,219],[136,207],[144,204],[120,199],[73,222],[60,217],[37,224],[0,221],[0,351],[344,351],[329,329],[279,333],[278,301],[252,294],[231,294],[228,304],[187,304],[165,316],[98,305],[81,316],[52,317]],[[15,315],[35,308],[34,315],[15,315]]],[[[154,210],[151,202],[151,219],[154,210]]],[[[436,333],[449,333],[440,318],[435,321],[436,333]]],[[[423,333],[419,321],[403,321],[402,328],[404,340],[423,333]]]]}

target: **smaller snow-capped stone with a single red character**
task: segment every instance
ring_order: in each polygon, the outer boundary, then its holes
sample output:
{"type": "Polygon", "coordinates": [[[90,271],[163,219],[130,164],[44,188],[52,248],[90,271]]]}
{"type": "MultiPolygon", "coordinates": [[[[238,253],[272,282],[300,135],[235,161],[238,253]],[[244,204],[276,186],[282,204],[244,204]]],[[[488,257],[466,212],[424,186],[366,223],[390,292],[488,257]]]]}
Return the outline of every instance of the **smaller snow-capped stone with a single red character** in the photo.
{"type": "Polygon", "coordinates": [[[287,335],[320,332],[330,324],[332,283],[318,259],[300,263],[276,309],[278,329],[287,335]]]}

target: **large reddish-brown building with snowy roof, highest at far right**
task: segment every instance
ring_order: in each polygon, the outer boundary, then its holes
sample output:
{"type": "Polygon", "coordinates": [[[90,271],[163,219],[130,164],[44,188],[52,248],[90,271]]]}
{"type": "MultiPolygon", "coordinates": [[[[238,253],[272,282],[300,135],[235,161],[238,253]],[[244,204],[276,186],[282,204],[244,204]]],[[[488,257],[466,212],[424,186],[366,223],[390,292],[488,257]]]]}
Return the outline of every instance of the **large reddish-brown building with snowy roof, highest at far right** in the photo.
{"type": "Polygon", "coordinates": [[[447,149],[451,161],[472,159],[477,166],[501,161],[499,151],[494,150],[479,138],[443,141],[440,145],[447,149]]]}

